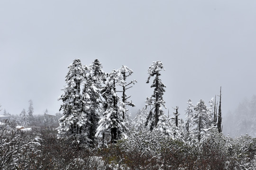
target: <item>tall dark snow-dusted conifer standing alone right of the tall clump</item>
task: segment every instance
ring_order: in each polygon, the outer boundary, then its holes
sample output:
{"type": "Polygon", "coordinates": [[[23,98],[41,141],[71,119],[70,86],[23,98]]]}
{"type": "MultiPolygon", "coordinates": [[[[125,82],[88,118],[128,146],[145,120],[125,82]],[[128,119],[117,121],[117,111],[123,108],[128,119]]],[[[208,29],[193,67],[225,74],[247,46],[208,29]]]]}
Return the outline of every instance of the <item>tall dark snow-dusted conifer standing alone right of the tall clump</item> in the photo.
{"type": "Polygon", "coordinates": [[[146,125],[149,123],[150,130],[153,130],[153,128],[157,126],[162,107],[165,107],[163,95],[166,86],[163,84],[162,80],[159,77],[161,76],[160,71],[162,70],[165,69],[161,61],[153,61],[153,64],[148,68],[149,76],[147,78],[146,83],[149,83],[150,78],[155,76],[153,84],[150,86],[151,88],[155,87],[154,93],[152,96],[147,97],[146,99],[146,107],[150,107],[146,125]]]}

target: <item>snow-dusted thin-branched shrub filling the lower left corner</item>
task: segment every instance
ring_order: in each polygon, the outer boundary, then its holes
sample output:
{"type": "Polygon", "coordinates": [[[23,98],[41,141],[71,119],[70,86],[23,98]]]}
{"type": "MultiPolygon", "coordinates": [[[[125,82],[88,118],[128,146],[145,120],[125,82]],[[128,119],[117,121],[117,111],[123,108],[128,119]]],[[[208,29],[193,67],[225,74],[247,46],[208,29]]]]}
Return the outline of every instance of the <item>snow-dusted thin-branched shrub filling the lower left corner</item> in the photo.
{"type": "Polygon", "coordinates": [[[28,136],[6,125],[0,128],[0,170],[30,169],[31,153],[40,153],[41,139],[28,136]]]}

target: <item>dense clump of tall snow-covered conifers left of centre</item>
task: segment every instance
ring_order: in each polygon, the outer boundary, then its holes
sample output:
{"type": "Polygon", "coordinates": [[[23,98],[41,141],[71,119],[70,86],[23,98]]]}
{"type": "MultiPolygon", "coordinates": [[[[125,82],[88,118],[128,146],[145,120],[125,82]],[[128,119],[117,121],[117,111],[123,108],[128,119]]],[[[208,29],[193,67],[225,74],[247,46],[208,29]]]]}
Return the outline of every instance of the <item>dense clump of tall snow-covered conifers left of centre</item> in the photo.
{"type": "Polygon", "coordinates": [[[89,66],[75,59],[68,68],[64,93],[59,98],[63,102],[59,138],[94,147],[100,143],[96,139],[101,138],[104,145],[111,136],[110,142],[116,143],[128,133],[127,106],[135,106],[126,94],[136,82],[127,82],[132,70],[122,66],[105,73],[98,59],[89,66]]]}

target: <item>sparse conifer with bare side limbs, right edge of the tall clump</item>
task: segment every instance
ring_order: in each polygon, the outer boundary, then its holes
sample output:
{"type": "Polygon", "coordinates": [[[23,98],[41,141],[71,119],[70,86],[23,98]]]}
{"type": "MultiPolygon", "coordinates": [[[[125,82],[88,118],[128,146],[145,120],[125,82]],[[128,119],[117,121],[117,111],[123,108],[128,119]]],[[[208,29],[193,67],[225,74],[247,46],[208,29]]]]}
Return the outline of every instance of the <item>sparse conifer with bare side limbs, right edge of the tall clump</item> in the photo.
{"type": "Polygon", "coordinates": [[[130,98],[131,96],[126,95],[126,90],[131,88],[132,86],[129,85],[134,85],[136,80],[132,80],[129,83],[126,82],[127,77],[130,76],[133,71],[129,69],[127,66],[122,66],[117,70],[118,72],[118,77],[119,77],[119,85],[122,87],[122,105],[123,105],[123,119],[126,119],[126,112],[128,109],[126,108],[126,105],[134,107],[135,105],[132,103],[132,101],[128,101],[127,99],[130,98]]]}

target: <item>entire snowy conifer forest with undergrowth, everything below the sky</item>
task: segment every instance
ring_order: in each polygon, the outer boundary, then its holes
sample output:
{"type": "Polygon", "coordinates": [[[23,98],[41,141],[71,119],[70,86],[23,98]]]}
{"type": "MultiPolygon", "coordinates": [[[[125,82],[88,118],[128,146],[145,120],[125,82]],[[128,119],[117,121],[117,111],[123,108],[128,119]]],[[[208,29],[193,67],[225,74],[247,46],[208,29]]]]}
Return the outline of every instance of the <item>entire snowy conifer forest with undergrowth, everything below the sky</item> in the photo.
{"type": "Polygon", "coordinates": [[[256,170],[255,96],[224,113],[219,86],[210,101],[188,96],[186,110],[167,112],[164,66],[153,61],[145,70],[141,78],[152,95],[132,116],[132,69],[107,73],[98,59],[86,65],[74,59],[55,115],[34,114],[32,100],[19,115],[0,108],[0,170],[256,170]],[[226,126],[223,114],[241,121],[226,126]],[[234,126],[243,135],[222,133],[234,126]]]}

